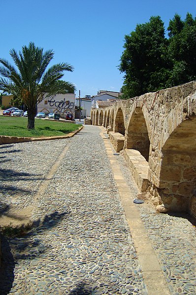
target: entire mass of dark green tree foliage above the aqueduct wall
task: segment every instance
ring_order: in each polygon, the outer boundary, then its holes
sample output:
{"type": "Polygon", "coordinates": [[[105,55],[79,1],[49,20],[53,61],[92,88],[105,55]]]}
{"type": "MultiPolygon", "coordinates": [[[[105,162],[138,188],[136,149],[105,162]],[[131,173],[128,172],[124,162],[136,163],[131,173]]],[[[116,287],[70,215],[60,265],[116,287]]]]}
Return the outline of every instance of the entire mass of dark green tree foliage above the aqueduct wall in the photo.
{"type": "Polygon", "coordinates": [[[160,16],[138,24],[125,36],[119,70],[125,73],[123,98],[196,79],[196,18],[178,14],[169,21],[168,38],[160,16]]]}

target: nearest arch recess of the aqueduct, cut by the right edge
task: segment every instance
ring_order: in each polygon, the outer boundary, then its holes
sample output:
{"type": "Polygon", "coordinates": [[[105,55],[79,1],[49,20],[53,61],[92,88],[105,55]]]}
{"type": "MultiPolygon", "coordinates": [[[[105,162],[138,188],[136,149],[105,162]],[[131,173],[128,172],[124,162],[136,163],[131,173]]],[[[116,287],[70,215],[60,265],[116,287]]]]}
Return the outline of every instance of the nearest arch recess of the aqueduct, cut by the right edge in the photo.
{"type": "Polygon", "coordinates": [[[183,121],[166,140],[158,191],[169,210],[196,217],[196,116],[183,121]]]}

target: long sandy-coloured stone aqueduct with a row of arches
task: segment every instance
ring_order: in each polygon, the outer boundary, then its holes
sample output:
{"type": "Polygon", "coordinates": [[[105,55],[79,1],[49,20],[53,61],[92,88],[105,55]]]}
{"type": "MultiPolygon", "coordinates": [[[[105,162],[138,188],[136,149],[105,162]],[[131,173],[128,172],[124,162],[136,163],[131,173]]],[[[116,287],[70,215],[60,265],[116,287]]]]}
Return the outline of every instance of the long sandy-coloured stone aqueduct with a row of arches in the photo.
{"type": "Polygon", "coordinates": [[[158,211],[196,217],[196,82],[92,109],[158,211]]]}

